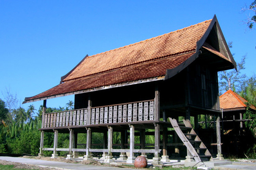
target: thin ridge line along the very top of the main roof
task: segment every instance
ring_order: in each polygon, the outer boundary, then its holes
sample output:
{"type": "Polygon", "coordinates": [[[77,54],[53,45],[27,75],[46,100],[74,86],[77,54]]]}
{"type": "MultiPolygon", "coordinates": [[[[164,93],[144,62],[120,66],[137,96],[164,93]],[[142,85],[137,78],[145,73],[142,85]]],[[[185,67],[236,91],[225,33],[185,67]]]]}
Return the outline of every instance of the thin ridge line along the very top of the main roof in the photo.
{"type": "Polygon", "coordinates": [[[137,43],[133,43],[133,44],[126,45],[126,46],[123,46],[123,47],[115,48],[115,49],[113,49],[113,50],[109,50],[109,51],[101,52],[101,53],[98,53],[98,54],[94,54],[94,55],[88,56],[87,58],[94,57],[94,56],[99,55],[99,54],[103,54],[103,53],[108,53],[108,52],[111,52],[111,51],[119,50],[119,49],[122,49],[122,48],[125,48],[125,47],[129,47],[129,46],[132,46],[132,45],[135,45],[135,44],[143,43],[143,42],[145,42],[145,41],[147,41],[147,40],[159,38],[159,37],[162,37],[162,36],[164,36],[164,35],[171,34],[171,33],[176,33],[176,32],[178,32],[178,31],[182,31],[182,30],[185,30],[185,29],[190,28],[190,27],[195,27],[195,26],[198,26],[199,24],[202,24],[202,23],[205,23],[205,22],[209,22],[209,21],[212,21],[212,19],[205,20],[205,21],[203,21],[203,22],[199,22],[199,23],[197,23],[197,24],[194,24],[194,25],[191,25],[191,26],[188,26],[188,27],[184,27],[183,29],[179,29],[179,30],[175,30],[175,31],[172,31],[172,32],[169,32],[169,33],[166,33],[166,34],[158,35],[157,37],[152,37],[152,38],[149,38],[149,39],[145,39],[145,40],[139,41],[139,42],[137,42],[137,43]]]}

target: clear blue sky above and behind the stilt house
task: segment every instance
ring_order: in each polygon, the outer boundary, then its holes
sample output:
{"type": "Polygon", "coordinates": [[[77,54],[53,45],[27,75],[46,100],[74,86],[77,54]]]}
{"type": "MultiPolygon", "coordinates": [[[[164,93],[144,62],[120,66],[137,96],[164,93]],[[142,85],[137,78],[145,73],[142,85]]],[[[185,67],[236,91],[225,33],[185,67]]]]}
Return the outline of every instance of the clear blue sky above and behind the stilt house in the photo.
{"type": "MultiPolygon", "coordinates": [[[[255,72],[256,30],[246,30],[233,1],[10,1],[0,0],[0,91],[17,93],[20,103],[59,84],[83,57],[182,29],[216,14],[236,62],[247,54],[247,75],[255,72]]],[[[255,25],[256,27],[256,25],[255,25]]],[[[3,99],[2,94],[0,98],[3,99]]],[[[65,106],[74,96],[47,100],[65,106]]],[[[43,101],[22,104],[36,109],[43,101]]]]}

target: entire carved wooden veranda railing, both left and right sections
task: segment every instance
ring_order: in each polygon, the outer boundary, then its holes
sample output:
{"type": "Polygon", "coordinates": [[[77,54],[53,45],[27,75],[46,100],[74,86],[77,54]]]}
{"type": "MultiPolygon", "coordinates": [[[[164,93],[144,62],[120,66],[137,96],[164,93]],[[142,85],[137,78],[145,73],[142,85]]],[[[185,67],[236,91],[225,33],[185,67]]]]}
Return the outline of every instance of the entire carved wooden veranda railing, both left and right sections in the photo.
{"type": "MultiPolygon", "coordinates": [[[[91,107],[91,124],[154,120],[154,100],[91,107]]],[[[43,128],[87,125],[87,108],[45,113],[43,128]]]]}

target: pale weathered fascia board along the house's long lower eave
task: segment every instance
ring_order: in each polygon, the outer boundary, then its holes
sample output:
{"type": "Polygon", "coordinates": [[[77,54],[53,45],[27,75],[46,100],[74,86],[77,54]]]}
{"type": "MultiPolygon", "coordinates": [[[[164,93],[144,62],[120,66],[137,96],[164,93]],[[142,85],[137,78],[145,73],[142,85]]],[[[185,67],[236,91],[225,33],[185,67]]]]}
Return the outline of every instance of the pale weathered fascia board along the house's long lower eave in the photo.
{"type": "Polygon", "coordinates": [[[134,85],[134,84],[140,84],[140,83],[147,83],[147,82],[153,82],[153,81],[159,81],[159,80],[163,80],[164,77],[165,76],[159,76],[159,77],[148,78],[148,79],[143,79],[143,80],[137,80],[137,81],[131,81],[131,82],[125,82],[125,83],[119,83],[119,84],[112,84],[112,85],[108,85],[108,86],[101,86],[101,87],[96,87],[96,88],[91,88],[91,89],[67,92],[67,93],[63,93],[63,94],[58,94],[58,95],[53,95],[53,96],[46,96],[46,97],[36,98],[36,99],[31,99],[31,100],[30,100],[31,97],[26,97],[25,100],[22,102],[22,104],[35,102],[35,101],[40,101],[40,100],[46,100],[46,99],[53,99],[53,98],[57,98],[57,97],[87,93],[87,92],[92,92],[92,91],[99,91],[99,90],[104,90],[104,89],[110,89],[110,88],[116,88],[116,87],[122,87],[122,86],[128,86],[128,85],[134,85]]]}

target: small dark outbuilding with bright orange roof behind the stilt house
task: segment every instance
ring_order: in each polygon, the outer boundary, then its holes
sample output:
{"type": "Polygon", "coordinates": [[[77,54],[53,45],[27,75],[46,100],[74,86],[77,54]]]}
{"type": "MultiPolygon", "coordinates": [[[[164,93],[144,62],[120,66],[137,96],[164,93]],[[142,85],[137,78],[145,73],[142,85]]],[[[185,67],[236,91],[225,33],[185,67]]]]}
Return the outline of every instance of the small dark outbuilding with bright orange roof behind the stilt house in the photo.
{"type": "Polygon", "coordinates": [[[222,111],[222,142],[226,153],[244,155],[244,147],[251,141],[249,130],[245,128],[245,122],[251,121],[251,119],[245,119],[244,114],[247,109],[256,113],[256,108],[253,105],[247,106],[246,103],[248,101],[232,91],[231,88],[219,97],[222,111]]]}

